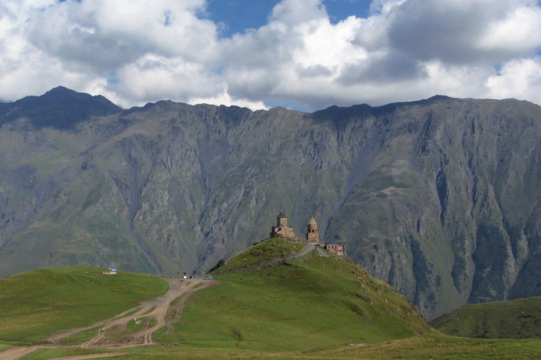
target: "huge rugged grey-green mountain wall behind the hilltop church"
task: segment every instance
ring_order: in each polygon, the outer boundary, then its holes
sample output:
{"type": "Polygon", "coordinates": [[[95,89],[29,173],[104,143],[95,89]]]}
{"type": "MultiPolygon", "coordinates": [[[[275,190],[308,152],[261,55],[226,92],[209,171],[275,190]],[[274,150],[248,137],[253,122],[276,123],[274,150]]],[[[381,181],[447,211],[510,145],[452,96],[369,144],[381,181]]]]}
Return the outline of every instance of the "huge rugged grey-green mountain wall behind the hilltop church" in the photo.
{"type": "Polygon", "coordinates": [[[201,272],[266,238],[284,210],[298,236],[314,217],[428,318],[541,295],[537,105],[120,111],[54,89],[0,112],[0,277],[66,264],[201,272]]]}

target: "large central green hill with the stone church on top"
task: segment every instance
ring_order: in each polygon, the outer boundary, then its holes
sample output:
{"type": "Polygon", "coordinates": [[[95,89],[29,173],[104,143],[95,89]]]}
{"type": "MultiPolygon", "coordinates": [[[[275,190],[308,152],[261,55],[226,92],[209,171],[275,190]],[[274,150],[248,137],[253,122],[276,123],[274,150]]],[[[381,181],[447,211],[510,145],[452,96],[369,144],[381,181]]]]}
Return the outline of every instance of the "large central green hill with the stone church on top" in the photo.
{"type": "MultiPolygon", "coordinates": [[[[267,241],[275,249],[290,245],[267,241]]],[[[300,259],[231,271],[232,264],[267,260],[269,252],[263,242],[218,269],[228,270],[214,276],[220,285],[192,297],[173,335],[157,340],[278,352],[382,342],[430,331],[404,297],[346,258],[311,252],[300,259]]]]}

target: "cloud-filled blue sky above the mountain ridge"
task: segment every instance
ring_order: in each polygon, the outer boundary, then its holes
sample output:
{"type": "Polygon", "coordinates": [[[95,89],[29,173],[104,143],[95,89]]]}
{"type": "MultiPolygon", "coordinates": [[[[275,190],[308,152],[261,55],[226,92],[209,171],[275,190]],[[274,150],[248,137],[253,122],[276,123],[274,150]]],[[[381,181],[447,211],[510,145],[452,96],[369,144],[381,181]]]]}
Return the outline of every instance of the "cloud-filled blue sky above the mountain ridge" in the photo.
{"type": "Polygon", "coordinates": [[[0,101],[541,104],[539,0],[1,0],[0,101]]]}

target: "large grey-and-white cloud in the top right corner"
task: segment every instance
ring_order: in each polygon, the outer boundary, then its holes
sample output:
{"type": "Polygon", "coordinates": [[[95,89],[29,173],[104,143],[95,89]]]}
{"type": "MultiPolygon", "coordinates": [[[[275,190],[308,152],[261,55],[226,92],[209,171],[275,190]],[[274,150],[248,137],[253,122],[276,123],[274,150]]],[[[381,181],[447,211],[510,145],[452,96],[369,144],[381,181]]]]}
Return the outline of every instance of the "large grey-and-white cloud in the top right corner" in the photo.
{"type": "Polygon", "coordinates": [[[389,37],[419,60],[501,62],[539,49],[541,9],[521,0],[410,0],[394,11],[389,37]]]}

